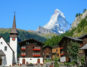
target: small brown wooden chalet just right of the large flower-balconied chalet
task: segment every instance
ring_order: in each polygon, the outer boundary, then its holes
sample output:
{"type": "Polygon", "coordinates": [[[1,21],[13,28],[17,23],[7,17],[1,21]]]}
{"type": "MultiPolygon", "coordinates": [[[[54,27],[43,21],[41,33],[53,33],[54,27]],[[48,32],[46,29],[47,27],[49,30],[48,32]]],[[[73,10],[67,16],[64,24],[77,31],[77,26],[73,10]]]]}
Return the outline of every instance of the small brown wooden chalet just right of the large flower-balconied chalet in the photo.
{"type": "Polygon", "coordinates": [[[52,58],[52,47],[50,47],[50,46],[43,47],[43,58],[44,58],[44,60],[52,58]]]}

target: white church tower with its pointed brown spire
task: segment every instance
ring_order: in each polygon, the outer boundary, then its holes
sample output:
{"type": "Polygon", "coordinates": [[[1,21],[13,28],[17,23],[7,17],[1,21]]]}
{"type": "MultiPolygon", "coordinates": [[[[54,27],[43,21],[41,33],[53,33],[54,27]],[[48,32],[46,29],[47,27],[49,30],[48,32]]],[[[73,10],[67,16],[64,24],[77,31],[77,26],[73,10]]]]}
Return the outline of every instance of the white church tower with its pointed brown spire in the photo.
{"type": "Polygon", "coordinates": [[[14,51],[13,63],[17,63],[17,43],[18,43],[17,36],[18,36],[18,33],[16,30],[16,20],[14,15],[13,26],[10,32],[10,46],[14,51]]]}

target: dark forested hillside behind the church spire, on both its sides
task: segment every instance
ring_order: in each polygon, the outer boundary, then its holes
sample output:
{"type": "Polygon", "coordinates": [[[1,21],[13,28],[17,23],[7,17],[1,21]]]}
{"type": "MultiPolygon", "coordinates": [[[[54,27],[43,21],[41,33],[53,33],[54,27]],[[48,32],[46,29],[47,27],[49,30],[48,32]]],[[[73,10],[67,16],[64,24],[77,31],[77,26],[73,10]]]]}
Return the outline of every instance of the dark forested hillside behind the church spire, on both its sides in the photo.
{"type": "MultiPolygon", "coordinates": [[[[9,42],[9,33],[10,33],[10,30],[11,29],[4,29],[4,28],[1,28],[0,29],[0,36],[3,36],[4,39],[9,42]]],[[[39,40],[41,42],[44,42],[46,40],[46,38],[42,37],[42,36],[39,36],[35,33],[30,33],[28,31],[25,31],[25,30],[20,30],[18,29],[18,41],[23,41],[23,40],[26,40],[26,39],[30,39],[30,38],[34,38],[36,40],[39,40]]]]}

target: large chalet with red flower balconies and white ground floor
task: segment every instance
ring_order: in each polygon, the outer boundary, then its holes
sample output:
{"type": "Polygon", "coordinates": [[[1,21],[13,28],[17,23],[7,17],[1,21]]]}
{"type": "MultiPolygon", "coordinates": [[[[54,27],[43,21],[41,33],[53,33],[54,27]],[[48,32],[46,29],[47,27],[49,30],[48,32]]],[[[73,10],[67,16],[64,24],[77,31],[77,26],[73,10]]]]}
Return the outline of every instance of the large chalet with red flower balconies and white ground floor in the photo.
{"type": "Polygon", "coordinates": [[[28,39],[19,43],[19,64],[43,64],[43,43],[28,39]]]}

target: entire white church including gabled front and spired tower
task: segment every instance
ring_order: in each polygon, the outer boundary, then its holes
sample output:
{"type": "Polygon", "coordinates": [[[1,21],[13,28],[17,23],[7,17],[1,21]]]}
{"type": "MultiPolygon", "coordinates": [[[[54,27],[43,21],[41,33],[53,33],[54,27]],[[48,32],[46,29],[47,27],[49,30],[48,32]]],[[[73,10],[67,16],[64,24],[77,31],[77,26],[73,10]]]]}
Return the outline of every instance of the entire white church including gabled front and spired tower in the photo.
{"type": "Polygon", "coordinates": [[[13,27],[10,33],[10,42],[7,43],[3,37],[0,37],[0,65],[12,66],[17,64],[17,30],[15,15],[13,20],[13,27]]]}

